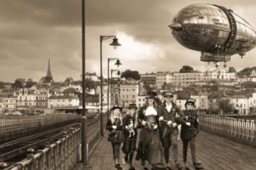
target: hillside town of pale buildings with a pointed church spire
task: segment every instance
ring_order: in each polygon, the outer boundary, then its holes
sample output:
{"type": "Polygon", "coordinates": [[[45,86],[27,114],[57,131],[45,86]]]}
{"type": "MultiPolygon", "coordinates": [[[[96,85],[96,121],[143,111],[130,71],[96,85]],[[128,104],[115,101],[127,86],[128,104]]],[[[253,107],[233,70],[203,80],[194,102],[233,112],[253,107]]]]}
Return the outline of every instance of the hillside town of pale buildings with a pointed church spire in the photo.
{"type": "MultiPolygon", "coordinates": [[[[145,103],[148,89],[157,92],[174,94],[176,104],[185,109],[187,98],[193,98],[197,109],[208,114],[255,114],[256,108],[256,72],[246,72],[238,76],[236,72],[228,72],[223,68],[207,72],[156,72],[139,74],[140,79],[112,77],[103,79],[102,105],[113,105],[117,101],[123,107],[136,103],[138,107],[145,103]],[[109,92],[110,95],[107,95],[109,92]],[[109,96],[109,100],[107,97],[109,96]]],[[[82,83],[66,78],[64,82],[55,82],[51,72],[50,60],[46,76],[38,83],[26,87],[30,79],[19,78],[21,87],[6,83],[0,90],[0,113],[3,114],[53,114],[64,110],[74,111],[82,105],[82,83]]],[[[82,76],[81,76],[82,79],[82,76]]],[[[100,77],[86,72],[86,109],[100,107],[100,77]]]]}

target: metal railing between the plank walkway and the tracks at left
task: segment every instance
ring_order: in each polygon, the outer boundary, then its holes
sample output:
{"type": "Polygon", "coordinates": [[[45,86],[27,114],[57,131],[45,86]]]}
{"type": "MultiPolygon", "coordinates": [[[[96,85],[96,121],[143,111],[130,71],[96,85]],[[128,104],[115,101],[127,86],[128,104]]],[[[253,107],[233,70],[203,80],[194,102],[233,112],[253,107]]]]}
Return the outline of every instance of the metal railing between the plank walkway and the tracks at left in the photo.
{"type": "MultiPolygon", "coordinates": [[[[107,123],[107,114],[103,116],[104,127],[107,123]]],[[[89,156],[94,145],[100,140],[100,117],[86,120],[86,138],[88,141],[89,156]]],[[[69,170],[73,169],[81,160],[81,127],[70,128],[64,131],[62,138],[45,145],[43,149],[35,151],[28,149],[28,155],[19,162],[0,162],[0,169],[4,170],[69,170]]]]}

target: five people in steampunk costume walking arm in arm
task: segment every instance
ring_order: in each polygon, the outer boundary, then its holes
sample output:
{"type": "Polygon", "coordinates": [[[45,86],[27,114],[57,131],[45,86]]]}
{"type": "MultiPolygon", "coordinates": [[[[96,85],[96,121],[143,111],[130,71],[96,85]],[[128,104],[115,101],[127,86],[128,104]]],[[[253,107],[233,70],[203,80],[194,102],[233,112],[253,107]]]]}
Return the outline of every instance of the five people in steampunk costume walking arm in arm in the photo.
{"type": "Polygon", "coordinates": [[[109,130],[108,141],[113,148],[113,158],[116,169],[120,166],[120,147],[125,153],[125,162],[129,169],[134,169],[132,160],[136,151],[136,160],[140,160],[143,169],[145,161],[152,169],[171,169],[170,148],[174,158],[175,169],[188,169],[188,143],[195,169],[201,162],[196,160],[195,138],[199,133],[199,120],[194,111],[194,100],[189,98],[185,103],[185,111],[181,111],[173,102],[171,92],[163,93],[163,103],[156,102],[156,93],[147,92],[145,105],[138,109],[136,104],[130,104],[125,116],[122,107],[114,105],[111,116],[107,120],[106,129],[109,130]],[[138,109],[138,110],[137,110],[138,109]],[[138,129],[140,138],[137,143],[138,129]],[[183,165],[178,161],[178,140],[183,141],[183,165]]]}

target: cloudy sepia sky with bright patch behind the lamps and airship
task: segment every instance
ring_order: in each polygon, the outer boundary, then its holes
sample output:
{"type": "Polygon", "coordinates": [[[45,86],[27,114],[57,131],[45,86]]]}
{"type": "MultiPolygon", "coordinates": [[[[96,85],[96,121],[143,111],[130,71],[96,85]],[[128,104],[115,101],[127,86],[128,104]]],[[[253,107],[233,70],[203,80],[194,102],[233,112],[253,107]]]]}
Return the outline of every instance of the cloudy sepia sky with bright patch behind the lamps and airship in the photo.
{"type": "MultiPolygon", "coordinates": [[[[102,43],[103,74],[107,58],[118,57],[120,71],[179,71],[183,65],[194,70],[213,70],[200,61],[200,52],[181,46],[167,27],[174,15],[192,3],[214,3],[232,9],[256,28],[255,0],[85,0],[86,72],[100,74],[100,35],[116,35],[122,44],[113,50],[111,39],[102,43]]],[[[81,0],[0,1],[0,81],[16,78],[39,81],[46,75],[48,59],[55,81],[82,73],[81,0]]],[[[238,71],[256,65],[256,48],[241,59],[237,54],[227,63],[238,71]]],[[[110,69],[117,69],[114,61],[110,69]]],[[[223,67],[221,63],[220,67],[223,67]]]]}

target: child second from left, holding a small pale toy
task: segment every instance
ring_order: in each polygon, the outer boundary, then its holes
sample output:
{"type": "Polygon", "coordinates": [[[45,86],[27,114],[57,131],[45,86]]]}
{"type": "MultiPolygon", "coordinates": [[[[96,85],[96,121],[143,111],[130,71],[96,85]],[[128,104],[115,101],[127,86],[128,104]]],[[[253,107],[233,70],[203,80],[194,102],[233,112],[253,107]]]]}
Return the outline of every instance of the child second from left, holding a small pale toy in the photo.
{"type": "Polygon", "coordinates": [[[125,142],[122,147],[122,151],[125,153],[125,162],[129,164],[129,169],[131,170],[134,169],[134,167],[132,167],[132,158],[134,157],[138,134],[138,114],[136,114],[137,109],[138,107],[136,104],[129,104],[127,114],[122,121],[125,127],[125,142]]]}

